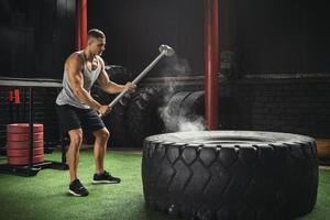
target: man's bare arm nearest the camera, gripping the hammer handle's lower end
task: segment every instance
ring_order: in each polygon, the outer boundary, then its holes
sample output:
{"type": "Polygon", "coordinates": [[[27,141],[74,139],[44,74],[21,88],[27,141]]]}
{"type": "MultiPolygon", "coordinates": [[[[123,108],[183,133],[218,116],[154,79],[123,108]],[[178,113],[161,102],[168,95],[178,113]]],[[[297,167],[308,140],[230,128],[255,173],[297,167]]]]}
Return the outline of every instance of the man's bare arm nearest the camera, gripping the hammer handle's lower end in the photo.
{"type": "Polygon", "coordinates": [[[75,53],[68,57],[65,68],[74,95],[82,103],[89,106],[91,109],[97,110],[101,114],[108,113],[110,109],[108,109],[107,106],[101,106],[89,95],[86,89],[84,89],[82,61],[78,54],[75,53]]]}

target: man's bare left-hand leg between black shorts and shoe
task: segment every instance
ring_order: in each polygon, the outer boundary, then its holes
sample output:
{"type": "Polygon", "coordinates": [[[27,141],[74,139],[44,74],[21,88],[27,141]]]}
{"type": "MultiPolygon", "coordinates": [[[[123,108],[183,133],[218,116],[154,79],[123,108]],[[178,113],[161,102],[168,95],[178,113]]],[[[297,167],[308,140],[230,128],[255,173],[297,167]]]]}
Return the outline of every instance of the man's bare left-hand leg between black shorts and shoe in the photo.
{"type": "Polygon", "coordinates": [[[78,179],[77,170],[79,163],[79,150],[82,143],[82,130],[74,129],[68,132],[70,144],[66,153],[67,163],[69,166],[70,182],[78,179]]]}

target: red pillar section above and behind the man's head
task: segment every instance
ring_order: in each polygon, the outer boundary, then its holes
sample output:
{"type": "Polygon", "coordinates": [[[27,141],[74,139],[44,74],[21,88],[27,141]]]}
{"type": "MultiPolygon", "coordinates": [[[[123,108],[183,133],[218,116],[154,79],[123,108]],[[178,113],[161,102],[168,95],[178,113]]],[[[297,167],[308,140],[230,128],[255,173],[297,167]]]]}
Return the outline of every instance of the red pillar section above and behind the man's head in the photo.
{"type": "Polygon", "coordinates": [[[87,0],[77,0],[76,16],[76,42],[77,50],[82,50],[87,45],[87,0]]]}

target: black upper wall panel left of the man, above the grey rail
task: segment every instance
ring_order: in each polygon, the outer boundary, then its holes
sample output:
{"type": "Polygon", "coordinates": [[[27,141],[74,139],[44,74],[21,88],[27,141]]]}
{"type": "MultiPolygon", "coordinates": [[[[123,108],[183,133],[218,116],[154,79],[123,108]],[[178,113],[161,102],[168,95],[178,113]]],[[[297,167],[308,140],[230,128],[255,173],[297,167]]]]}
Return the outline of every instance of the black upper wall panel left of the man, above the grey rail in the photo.
{"type": "Polygon", "coordinates": [[[75,50],[75,0],[0,0],[0,76],[62,78],[75,50]]]}

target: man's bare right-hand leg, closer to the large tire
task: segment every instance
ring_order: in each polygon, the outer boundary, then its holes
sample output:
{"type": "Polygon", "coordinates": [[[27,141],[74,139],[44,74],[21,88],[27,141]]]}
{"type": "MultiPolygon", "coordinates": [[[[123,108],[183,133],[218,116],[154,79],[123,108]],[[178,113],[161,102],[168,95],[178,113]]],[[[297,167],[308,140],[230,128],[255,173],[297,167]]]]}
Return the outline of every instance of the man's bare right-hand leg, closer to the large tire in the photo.
{"type": "Polygon", "coordinates": [[[95,156],[95,168],[97,174],[101,174],[105,170],[105,157],[107,151],[107,143],[109,140],[109,131],[107,128],[100,129],[94,132],[95,144],[94,144],[94,156],[95,156]]]}

